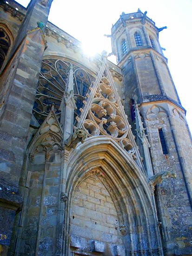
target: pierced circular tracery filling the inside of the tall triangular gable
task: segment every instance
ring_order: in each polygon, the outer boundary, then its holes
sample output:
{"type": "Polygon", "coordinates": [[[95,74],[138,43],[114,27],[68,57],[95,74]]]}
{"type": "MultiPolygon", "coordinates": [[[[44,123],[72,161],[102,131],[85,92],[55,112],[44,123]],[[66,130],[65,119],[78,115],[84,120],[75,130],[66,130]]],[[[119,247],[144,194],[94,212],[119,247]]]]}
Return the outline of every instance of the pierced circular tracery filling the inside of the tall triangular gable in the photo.
{"type": "Polygon", "coordinates": [[[118,94],[104,72],[83,124],[87,136],[109,135],[136,159],[132,141],[128,135],[128,122],[121,113],[118,94]]]}

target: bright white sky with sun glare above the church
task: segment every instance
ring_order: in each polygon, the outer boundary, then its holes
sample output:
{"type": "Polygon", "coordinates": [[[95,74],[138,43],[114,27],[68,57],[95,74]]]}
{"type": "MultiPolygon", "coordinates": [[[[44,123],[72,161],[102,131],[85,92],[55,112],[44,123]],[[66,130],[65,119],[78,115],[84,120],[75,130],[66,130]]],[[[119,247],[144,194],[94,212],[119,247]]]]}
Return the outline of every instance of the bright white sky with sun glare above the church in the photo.
{"type": "MultiPolygon", "coordinates": [[[[17,1],[25,7],[29,2],[17,1]]],[[[159,41],[166,48],[164,54],[192,131],[192,0],[53,0],[49,21],[81,41],[87,53],[110,53],[110,38],[103,35],[111,34],[112,23],[122,12],[138,8],[147,11],[157,27],[167,26],[159,33],[159,41]]]]}

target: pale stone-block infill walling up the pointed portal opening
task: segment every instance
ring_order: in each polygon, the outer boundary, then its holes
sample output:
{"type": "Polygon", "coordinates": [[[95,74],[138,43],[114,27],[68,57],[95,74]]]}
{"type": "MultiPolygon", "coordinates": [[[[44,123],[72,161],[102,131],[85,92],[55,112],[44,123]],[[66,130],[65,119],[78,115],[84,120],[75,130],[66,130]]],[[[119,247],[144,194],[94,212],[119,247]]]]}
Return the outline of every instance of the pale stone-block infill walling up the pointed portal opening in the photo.
{"type": "Polygon", "coordinates": [[[91,240],[98,240],[105,248],[103,255],[113,255],[115,246],[122,245],[119,219],[114,202],[96,175],[82,181],[73,194],[71,207],[72,247],[76,236],[81,239],[80,249],[90,248],[91,240]],[[74,240],[74,241],[73,241],[74,240]]]}

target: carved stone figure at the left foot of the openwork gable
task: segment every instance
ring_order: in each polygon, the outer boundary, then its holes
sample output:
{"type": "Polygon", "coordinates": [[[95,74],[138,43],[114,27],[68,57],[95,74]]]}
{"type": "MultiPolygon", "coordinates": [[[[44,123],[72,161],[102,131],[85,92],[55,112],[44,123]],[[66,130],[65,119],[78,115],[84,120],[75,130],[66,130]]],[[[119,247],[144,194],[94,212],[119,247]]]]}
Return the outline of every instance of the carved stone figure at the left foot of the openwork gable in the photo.
{"type": "Polygon", "coordinates": [[[74,127],[74,132],[64,141],[64,148],[76,148],[79,142],[84,143],[86,139],[86,131],[84,128],[74,127]]]}

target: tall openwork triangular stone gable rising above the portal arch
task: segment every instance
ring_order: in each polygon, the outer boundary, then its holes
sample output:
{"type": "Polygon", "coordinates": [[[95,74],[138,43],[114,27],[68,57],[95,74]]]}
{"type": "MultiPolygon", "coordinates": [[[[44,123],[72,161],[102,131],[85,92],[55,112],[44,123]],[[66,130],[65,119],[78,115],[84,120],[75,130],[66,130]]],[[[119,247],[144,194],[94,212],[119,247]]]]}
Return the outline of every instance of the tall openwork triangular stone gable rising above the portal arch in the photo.
{"type": "Polygon", "coordinates": [[[137,159],[139,166],[143,168],[124,107],[107,64],[100,70],[95,87],[82,111],[78,127],[84,127],[88,137],[112,136],[134,160],[137,159]]]}

